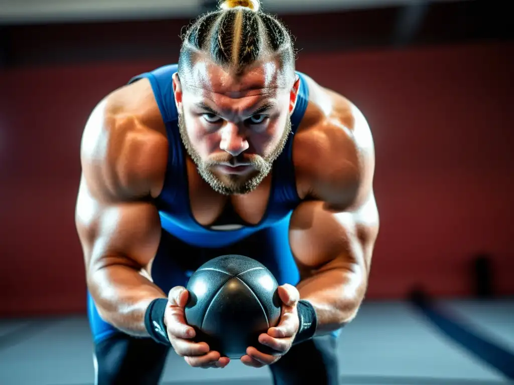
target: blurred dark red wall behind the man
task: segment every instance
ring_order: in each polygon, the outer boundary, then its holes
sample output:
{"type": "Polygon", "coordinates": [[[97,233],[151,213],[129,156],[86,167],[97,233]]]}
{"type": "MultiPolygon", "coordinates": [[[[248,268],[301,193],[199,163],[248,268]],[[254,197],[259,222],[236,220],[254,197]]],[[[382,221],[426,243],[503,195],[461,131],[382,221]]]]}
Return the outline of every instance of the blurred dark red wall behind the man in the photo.
{"type": "MultiPolygon", "coordinates": [[[[368,298],[414,284],[470,294],[470,258],[492,253],[514,294],[513,44],[300,52],[298,69],[354,101],[374,132],[381,232],[368,298]]],[[[0,314],[85,309],[74,225],[79,146],[91,108],[164,62],[0,72],[0,314]]]]}

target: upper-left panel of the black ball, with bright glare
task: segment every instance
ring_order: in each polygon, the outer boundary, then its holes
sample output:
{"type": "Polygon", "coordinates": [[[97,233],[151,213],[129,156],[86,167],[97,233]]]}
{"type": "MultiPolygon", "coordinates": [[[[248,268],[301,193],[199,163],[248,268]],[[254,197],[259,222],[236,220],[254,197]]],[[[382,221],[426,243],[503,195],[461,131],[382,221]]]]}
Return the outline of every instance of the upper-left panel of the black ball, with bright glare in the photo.
{"type": "Polygon", "coordinates": [[[231,275],[217,270],[196,271],[189,279],[187,290],[189,299],[186,304],[186,322],[201,327],[205,313],[218,291],[227,283],[231,275]]]}

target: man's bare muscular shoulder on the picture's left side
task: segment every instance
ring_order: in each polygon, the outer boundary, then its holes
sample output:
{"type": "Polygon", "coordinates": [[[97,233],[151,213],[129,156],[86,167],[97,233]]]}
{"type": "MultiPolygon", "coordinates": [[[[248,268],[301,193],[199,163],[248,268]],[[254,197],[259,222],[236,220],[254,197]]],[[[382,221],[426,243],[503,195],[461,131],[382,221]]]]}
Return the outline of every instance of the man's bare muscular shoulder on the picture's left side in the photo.
{"type": "Polygon", "coordinates": [[[167,156],[164,123],[148,81],[113,91],[91,111],[80,150],[90,188],[117,197],[155,195],[167,156]]]}

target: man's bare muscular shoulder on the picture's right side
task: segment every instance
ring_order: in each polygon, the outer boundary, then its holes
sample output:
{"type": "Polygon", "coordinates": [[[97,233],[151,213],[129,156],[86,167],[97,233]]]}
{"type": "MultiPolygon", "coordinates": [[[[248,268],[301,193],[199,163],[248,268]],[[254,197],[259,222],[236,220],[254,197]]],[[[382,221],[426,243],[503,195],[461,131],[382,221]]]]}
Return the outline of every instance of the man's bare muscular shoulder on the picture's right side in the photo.
{"type": "Polygon", "coordinates": [[[373,188],[371,128],[351,101],[310,78],[307,82],[309,104],[293,148],[301,195],[338,207],[359,206],[373,188]]]}

